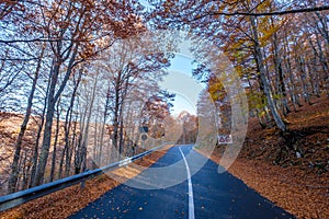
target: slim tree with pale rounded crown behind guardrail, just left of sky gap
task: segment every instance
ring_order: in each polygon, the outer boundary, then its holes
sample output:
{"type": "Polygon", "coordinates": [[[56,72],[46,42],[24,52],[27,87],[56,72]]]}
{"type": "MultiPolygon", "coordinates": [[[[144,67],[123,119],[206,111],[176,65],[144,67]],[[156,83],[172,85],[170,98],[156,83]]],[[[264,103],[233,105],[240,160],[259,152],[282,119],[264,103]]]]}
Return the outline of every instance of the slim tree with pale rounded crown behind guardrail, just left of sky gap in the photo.
{"type": "Polygon", "coordinates": [[[143,81],[148,81],[150,88],[155,79],[164,74],[162,69],[169,66],[169,55],[159,50],[158,42],[150,41],[147,35],[141,36],[118,42],[110,49],[103,62],[110,80],[109,89],[112,91],[107,99],[113,100],[106,101],[113,115],[112,145],[118,154],[123,153],[125,141],[124,114],[132,105],[131,101],[134,101],[129,99],[128,93],[138,90],[138,83],[143,84],[143,81]]]}

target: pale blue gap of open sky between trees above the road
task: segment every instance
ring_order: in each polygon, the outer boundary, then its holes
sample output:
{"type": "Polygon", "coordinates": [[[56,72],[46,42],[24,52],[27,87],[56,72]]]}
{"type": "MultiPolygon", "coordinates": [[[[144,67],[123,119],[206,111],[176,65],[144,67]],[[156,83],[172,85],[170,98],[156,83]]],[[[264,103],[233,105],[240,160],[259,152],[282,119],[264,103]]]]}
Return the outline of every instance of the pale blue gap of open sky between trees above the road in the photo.
{"type": "Polygon", "coordinates": [[[204,85],[192,78],[192,59],[184,55],[175,54],[168,71],[169,74],[163,82],[160,82],[162,89],[175,93],[172,115],[179,115],[182,111],[196,115],[198,94],[204,85]]]}

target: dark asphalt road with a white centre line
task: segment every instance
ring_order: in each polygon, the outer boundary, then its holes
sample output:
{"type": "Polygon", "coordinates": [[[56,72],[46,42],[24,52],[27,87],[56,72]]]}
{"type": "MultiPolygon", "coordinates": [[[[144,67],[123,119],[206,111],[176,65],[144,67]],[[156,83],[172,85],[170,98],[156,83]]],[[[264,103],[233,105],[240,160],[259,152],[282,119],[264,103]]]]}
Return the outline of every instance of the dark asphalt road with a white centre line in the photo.
{"type": "Polygon", "coordinates": [[[294,218],[217,169],[192,146],[172,147],[127,185],[109,191],[70,218],[294,218]]]}

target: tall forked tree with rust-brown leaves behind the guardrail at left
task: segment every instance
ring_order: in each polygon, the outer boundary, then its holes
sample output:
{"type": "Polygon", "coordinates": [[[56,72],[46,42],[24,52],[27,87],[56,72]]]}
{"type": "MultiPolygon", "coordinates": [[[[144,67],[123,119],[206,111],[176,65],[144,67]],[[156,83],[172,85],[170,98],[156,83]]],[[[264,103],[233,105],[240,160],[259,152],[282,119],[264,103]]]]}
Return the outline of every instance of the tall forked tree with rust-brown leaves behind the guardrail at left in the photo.
{"type": "MultiPolygon", "coordinates": [[[[128,8],[115,8],[113,10],[123,10],[122,18],[114,18],[115,11],[104,10],[110,7],[109,2],[101,4],[94,2],[77,1],[77,2],[54,2],[47,8],[41,8],[43,14],[43,23],[46,24],[45,32],[48,38],[56,38],[50,42],[52,51],[54,54],[52,70],[49,73],[49,92],[47,96],[47,112],[44,128],[44,137],[42,151],[36,169],[34,185],[39,185],[43,182],[48,151],[52,139],[52,126],[55,112],[55,104],[63,93],[72,69],[98,54],[104,47],[107,47],[111,42],[105,45],[112,35],[120,36],[124,32],[131,34],[131,27],[121,26],[121,21],[134,25],[135,18],[127,16],[128,8]],[[117,19],[121,19],[118,22],[117,19]],[[116,21],[115,21],[116,20],[116,21]],[[106,22],[106,23],[104,23],[106,22]],[[98,25],[95,25],[98,24],[98,25]],[[118,31],[118,27],[122,30],[118,31]],[[91,36],[90,33],[94,33],[91,36]],[[104,35],[106,34],[106,35],[104,35]],[[100,38],[99,38],[100,37],[100,38]],[[102,41],[102,44],[98,44],[102,41]],[[65,68],[64,74],[61,71],[65,68]],[[61,76],[61,80],[59,79],[61,76]]],[[[121,5],[118,5],[121,7],[121,5]]]]}

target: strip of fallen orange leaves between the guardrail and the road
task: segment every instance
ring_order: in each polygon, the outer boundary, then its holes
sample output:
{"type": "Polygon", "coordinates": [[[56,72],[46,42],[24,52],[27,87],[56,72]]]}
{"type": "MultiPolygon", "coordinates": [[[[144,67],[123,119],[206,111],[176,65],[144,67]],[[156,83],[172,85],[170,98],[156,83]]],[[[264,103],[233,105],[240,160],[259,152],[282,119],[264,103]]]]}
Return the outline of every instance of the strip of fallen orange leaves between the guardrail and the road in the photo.
{"type": "Polygon", "coordinates": [[[89,180],[86,182],[83,188],[80,184],[73,185],[0,212],[0,218],[67,218],[86,207],[89,203],[99,198],[107,191],[139,174],[143,170],[140,166],[150,166],[161,158],[170,147],[171,146],[167,146],[160,151],[156,151],[135,161],[135,165],[129,164],[126,168],[120,168],[109,174],[103,174],[89,180]]]}

